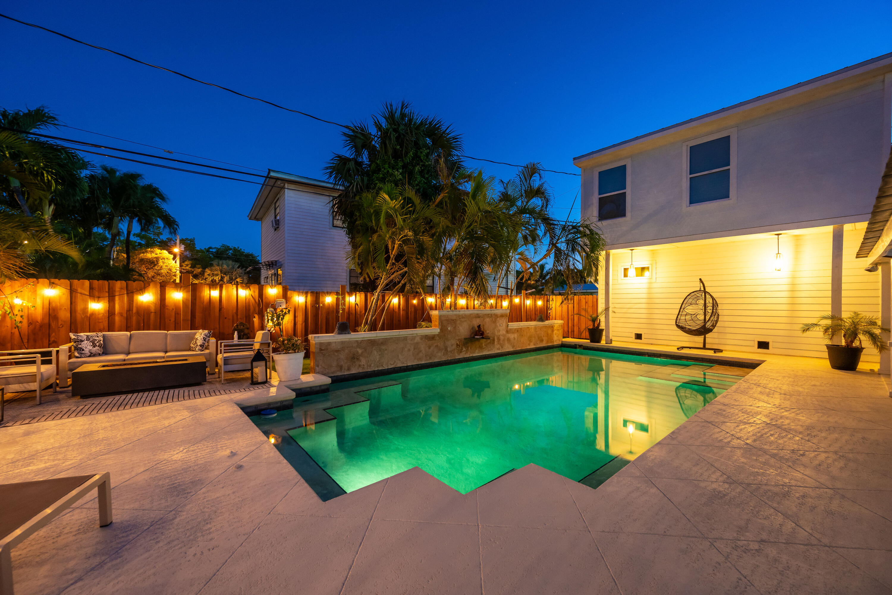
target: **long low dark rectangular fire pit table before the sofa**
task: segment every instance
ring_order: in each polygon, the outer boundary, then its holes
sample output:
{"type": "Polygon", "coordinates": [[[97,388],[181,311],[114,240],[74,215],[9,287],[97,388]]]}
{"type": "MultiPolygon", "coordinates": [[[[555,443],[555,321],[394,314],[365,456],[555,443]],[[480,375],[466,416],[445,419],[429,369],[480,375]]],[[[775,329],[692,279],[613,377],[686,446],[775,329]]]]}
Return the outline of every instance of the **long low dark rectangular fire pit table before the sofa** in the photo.
{"type": "Polygon", "coordinates": [[[71,372],[72,397],[138,393],[156,388],[194,386],[208,379],[208,360],[202,355],[177,359],[144,359],[108,364],[85,364],[71,372]]]}

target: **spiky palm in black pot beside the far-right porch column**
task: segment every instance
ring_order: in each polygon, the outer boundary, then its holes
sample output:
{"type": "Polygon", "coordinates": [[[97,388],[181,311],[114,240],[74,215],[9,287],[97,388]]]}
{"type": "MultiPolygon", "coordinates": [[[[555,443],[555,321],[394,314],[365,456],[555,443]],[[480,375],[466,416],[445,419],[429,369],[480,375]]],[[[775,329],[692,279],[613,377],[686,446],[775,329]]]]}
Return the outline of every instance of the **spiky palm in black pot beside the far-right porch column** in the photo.
{"type": "Polygon", "coordinates": [[[799,327],[803,333],[820,330],[827,339],[827,359],[830,368],[837,370],[856,370],[864,351],[862,337],[877,351],[886,351],[888,346],[880,333],[888,333],[888,328],[880,326],[875,316],[866,316],[860,312],[852,312],[847,317],[824,314],[817,322],[808,322],[799,327]],[[830,343],[835,335],[842,338],[843,344],[830,343]]]}

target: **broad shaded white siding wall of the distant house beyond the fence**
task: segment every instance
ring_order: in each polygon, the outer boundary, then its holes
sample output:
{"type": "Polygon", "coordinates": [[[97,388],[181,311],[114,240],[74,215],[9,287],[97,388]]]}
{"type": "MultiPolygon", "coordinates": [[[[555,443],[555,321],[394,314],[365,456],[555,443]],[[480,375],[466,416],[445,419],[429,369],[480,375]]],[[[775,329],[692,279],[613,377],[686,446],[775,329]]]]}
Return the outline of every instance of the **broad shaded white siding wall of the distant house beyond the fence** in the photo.
{"type": "Polygon", "coordinates": [[[285,190],[283,275],[293,291],[337,291],[350,282],[347,235],[341,227],[332,227],[329,200],[324,194],[285,190]]]}

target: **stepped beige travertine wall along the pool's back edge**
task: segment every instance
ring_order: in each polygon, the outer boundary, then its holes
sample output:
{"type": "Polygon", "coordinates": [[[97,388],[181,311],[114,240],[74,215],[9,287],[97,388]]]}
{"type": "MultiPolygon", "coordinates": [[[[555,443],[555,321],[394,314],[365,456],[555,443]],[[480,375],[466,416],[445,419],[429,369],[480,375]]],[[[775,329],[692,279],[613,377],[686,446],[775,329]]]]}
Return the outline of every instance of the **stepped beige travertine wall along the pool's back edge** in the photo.
{"type": "Polygon", "coordinates": [[[310,335],[316,374],[341,376],[559,345],[563,322],[508,323],[508,310],[433,310],[434,327],[352,335],[310,335]],[[472,339],[477,325],[487,339],[472,339]]]}

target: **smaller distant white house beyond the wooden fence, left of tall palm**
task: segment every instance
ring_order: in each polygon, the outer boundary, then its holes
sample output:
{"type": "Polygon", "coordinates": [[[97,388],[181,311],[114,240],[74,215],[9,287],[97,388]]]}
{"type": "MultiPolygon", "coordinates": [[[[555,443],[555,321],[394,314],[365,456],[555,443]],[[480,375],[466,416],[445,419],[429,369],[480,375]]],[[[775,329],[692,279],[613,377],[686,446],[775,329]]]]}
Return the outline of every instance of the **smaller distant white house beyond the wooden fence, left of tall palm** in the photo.
{"type": "Polygon", "coordinates": [[[270,169],[248,213],[260,221],[260,283],[337,291],[350,283],[347,235],[332,217],[340,187],[270,169]]]}

